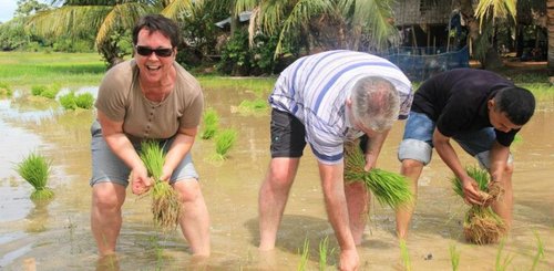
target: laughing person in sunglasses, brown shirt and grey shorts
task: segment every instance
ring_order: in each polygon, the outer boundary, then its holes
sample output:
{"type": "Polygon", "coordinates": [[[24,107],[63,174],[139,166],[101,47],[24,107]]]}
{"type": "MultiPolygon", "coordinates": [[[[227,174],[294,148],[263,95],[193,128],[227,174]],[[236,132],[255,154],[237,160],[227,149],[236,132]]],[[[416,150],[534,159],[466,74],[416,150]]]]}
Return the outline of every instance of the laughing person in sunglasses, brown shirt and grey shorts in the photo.
{"type": "Polygon", "coordinates": [[[138,156],[145,139],[164,147],[161,179],[182,201],[179,225],[192,252],[209,254],[208,211],[191,157],[204,96],[198,82],[175,62],[178,42],[172,20],[141,18],[133,30],[134,59],[112,67],[100,85],[90,184],[91,228],[101,257],[115,252],[129,180],[137,195],[153,185],[138,156]]]}

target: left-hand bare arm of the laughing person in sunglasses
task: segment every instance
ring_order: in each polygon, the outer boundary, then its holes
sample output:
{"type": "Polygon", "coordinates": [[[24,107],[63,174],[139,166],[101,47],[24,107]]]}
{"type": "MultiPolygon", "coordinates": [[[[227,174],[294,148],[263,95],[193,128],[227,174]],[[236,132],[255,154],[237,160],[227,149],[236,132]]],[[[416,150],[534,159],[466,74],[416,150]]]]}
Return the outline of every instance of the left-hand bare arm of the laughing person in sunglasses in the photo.
{"type": "Polygon", "coordinates": [[[123,133],[123,122],[111,121],[103,112],[98,111],[98,119],[102,126],[102,136],[112,152],[132,170],[132,187],[134,194],[147,191],[151,181],[141,157],[131,140],[123,133]]]}

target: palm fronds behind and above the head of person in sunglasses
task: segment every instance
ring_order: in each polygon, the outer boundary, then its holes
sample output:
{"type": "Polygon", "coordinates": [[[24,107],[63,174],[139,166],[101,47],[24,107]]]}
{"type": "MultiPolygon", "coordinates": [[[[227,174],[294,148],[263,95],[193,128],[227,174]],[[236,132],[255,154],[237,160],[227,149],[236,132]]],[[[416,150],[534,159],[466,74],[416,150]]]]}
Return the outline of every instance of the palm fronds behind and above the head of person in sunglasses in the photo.
{"type": "MultiPolygon", "coordinates": [[[[58,8],[37,12],[28,27],[38,34],[79,37],[93,31],[95,45],[109,65],[116,64],[129,51],[121,42],[136,22],[147,13],[162,12],[176,18],[198,0],[53,0],[58,8]]],[[[192,12],[191,12],[192,13],[192,12]]]]}

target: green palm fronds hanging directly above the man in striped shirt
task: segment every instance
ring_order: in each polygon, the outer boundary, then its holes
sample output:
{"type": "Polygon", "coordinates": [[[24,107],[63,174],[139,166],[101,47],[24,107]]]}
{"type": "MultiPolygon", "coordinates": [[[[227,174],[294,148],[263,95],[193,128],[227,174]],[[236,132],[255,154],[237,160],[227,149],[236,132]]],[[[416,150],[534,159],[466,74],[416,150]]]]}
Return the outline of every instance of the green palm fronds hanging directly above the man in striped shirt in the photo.
{"type": "Polygon", "coordinates": [[[236,13],[252,10],[250,41],[261,31],[277,34],[275,56],[287,43],[304,42],[310,50],[387,48],[396,33],[390,22],[391,0],[236,0],[236,13]]]}

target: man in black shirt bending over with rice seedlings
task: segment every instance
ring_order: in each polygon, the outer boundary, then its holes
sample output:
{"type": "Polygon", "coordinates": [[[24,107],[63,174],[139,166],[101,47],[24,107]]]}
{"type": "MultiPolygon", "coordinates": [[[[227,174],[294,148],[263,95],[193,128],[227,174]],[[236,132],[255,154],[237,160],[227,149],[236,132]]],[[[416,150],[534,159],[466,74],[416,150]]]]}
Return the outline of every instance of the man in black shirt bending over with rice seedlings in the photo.
{"type": "MultiPolygon", "coordinates": [[[[398,150],[401,174],[411,180],[417,196],[418,178],[431,160],[434,146],[462,180],[465,202],[482,205],[476,181],[468,176],[450,144],[453,138],[504,189],[502,200],[494,201],[492,208],[510,227],[513,205],[510,145],[534,110],[535,98],[530,91],[493,72],[456,69],[431,77],[413,97],[398,150]]],[[[397,232],[401,239],[408,234],[413,208],[397,211],[397,232]]]]}

